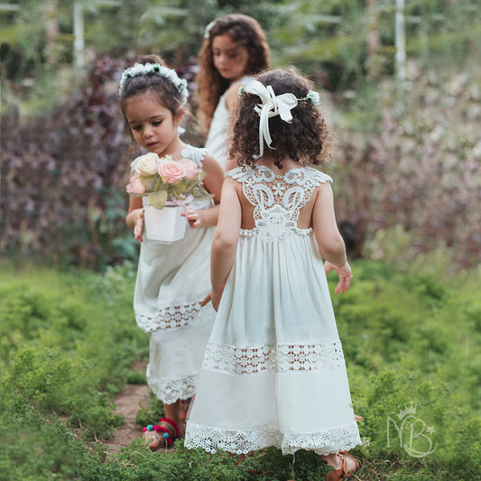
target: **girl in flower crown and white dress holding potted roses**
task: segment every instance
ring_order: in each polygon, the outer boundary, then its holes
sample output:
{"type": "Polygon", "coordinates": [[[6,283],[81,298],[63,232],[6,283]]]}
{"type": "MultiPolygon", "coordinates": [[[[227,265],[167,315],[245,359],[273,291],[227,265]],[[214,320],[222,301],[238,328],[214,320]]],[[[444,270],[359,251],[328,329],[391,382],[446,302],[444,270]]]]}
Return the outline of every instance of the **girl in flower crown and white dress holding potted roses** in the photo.
{"type": "Polygon", "coordinates": [[[134,229],[135,239],[142,243],[134,313],[138,326],[150,334],[147,382],[165,410],[165,418],[155,426],[150,425],[145,433],[153,441],[152,449],[170,445],[182,434],[181,408],[185,408],[186,400],[194,393],[215,317],[213,309],[200,309],[200,301],[210,291],[209,253],[217,224],[223,171],[203,149],[179,138],[178,127],[187,95],[187,82],[153,55],[125,69],[119,88],[122,111],[134,141],[161,158],[171,155],[174,161],[196,162],[206,172],[205,189],[213,194],[213,200],[190,203],[191,228],[187,228],[182,240],[173,244],[158,244],[143,238],[143,206],[147,199],[130,196],[125,221],[134,229]]]}

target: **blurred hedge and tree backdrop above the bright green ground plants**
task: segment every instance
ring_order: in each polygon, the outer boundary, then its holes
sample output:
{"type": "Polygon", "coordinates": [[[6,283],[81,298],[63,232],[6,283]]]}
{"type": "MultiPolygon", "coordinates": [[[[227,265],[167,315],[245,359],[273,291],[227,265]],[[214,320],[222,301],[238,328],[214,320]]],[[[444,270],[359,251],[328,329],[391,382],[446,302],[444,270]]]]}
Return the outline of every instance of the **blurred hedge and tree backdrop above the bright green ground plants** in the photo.
{"type": "MultiPolygon", "coordinates": [[[[116,82],[138,54],[154,51],[193,88],[204,25],[240,11],[263,25],[273,66],[295,65],[321,90],[338,133],[338,157],[325,170],[336,180],[352,257],[413,259],[440,249],[458,268],[479,263],[476,2],[406,2],[404,81],[395,75],[391,2],[77,4],[84,68],[75,67],[71,3],[17,0],[17,11],[0,14],[4,252],[101,269],[136,258],[123,220],[135,151],[116,82]]],[[[203,143],[192,122],[185,140],[203,143]]]]}

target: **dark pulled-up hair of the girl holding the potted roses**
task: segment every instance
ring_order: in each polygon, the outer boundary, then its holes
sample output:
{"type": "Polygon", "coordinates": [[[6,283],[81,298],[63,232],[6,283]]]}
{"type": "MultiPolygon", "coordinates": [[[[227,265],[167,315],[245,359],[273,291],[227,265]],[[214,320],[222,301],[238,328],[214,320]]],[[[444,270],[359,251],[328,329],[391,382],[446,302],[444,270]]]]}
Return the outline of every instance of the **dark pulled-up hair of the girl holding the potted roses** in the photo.
{"type": "MultiPolygon", "coordinates": [[[[165,66],[164,61],[158,55],[145,55],[136,63],[145,65],[146,63],[159,63],[165,66]]],[[[172,116],[176,116],[181,106],[181,97],[179,89],[171,82],[170,79],[162,77],[155,72],[136,75],[125,80],[122,92],[119,94],[120,106],[124,112],[125,100],[138,94],[148,92],[157,97],[162,106],[168,108],[172,116]]]]}

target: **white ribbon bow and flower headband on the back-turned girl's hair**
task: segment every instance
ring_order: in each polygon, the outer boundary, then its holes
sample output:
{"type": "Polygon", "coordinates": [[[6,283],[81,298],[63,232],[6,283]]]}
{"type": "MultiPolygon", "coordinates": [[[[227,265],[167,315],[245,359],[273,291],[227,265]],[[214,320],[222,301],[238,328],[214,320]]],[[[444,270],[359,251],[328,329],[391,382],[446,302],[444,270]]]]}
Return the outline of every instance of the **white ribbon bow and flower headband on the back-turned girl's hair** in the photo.
{"type": "Polygon", "coordinates": [[[269,132],[269,118],[273,116],[281,116],[282,120],[291,123],[292,114],[291,109],[297,106],[301,100],[310,102],[314,106],[319,106],[319,93],[310,90],[306,97],[297,98],[294,94],[286,93],[276,96],[273,88],[268,85],[264,86],[258,80],[252,80],[245,87],[239,88],[239,97],[245,94],[253,94],[261,97],[262,104],[254,106],[254,110],[258,116],[261,117],[259,121],[259,155],[254,157],[258,159],[264,155],[264,140],[270,149],[273,139],[269,132]]]}

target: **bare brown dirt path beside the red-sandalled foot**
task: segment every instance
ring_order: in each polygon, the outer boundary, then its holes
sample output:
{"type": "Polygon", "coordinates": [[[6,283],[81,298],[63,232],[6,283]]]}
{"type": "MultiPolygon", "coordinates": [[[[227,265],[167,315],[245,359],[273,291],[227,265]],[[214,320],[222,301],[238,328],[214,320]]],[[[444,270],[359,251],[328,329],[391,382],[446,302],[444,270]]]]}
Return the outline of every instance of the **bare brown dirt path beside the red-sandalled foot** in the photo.
{"type": "MultiPolygon", "coordinates": [[[[135,369],[142,368],[144,369],[144,366],[135,366],[135,369]]],[[[135,424],[135,416],[141,407],[146,408],[149,404],[149,387],[147,384],[125,384],[114,402],[116,403],[114,414],[125,416],[125,424],[117,428],[112,438],[104,442],[110,454],[118,453],[121,448],[142,436],[142,426],[135,424]]]]}

